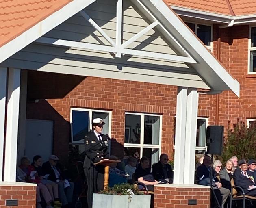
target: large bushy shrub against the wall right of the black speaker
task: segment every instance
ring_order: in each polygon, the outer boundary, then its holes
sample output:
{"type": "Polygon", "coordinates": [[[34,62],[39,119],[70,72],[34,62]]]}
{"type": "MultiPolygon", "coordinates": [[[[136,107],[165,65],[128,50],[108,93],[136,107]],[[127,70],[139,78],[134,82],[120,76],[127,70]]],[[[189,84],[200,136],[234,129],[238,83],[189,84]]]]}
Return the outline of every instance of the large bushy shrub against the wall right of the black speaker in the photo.
{"type": "Polygon", "coordinates": [[[252,125],[247,128],[246,124],[237,120],[233,128],[228,123],[227,139],[224,142],[223,153],[221,154],[222,162],[225,162],[232,156],[240,159],[256,159],[254,147],[256,145],[256,126],[252,125]]]}

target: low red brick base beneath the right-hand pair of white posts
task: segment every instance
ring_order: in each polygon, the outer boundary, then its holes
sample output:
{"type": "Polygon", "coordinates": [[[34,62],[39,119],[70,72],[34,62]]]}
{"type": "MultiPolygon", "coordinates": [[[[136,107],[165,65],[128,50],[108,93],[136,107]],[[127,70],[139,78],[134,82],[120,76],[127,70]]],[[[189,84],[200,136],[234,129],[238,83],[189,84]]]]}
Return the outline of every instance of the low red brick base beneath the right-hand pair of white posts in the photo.
{"type": "Polygon", "coordinates": [[[209,208],[210,188],[154,187],[154,208],[209,208]],[[197,199],[197,205],[188,205],[197,199]]]}

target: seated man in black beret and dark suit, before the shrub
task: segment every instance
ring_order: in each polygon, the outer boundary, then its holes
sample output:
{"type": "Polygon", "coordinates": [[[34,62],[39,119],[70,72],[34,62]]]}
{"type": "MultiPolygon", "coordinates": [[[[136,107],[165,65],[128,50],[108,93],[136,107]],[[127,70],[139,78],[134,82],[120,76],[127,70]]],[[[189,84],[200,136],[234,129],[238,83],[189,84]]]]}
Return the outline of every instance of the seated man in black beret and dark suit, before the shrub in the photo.
{"type": "MultiPolygon", "coordinates": [[[[256,196],[256,186],[247,173],[247,161],[245,159],[238,161],[239,168],[234,172],[234,184],[241,186],[246,195],[256,196]]],[[[241,194],[241,192],[239,192],[241,194]]]]}

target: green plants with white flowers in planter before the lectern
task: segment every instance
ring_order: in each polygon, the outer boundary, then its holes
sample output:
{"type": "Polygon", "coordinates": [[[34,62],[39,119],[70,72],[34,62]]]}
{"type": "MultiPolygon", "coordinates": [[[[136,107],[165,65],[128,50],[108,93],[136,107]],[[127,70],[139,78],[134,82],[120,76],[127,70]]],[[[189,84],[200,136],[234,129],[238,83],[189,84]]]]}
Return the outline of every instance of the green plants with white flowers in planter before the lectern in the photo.
{"type": "Polygon", "coordinates": [[[112,188],[107,187],[106,190],[102,190],[99,192],[100,194],[108,194],[108,195],[143,195],[142,191],[139,191],[137,186],[133,186],[131,184],[115,184],[112,188]]]}

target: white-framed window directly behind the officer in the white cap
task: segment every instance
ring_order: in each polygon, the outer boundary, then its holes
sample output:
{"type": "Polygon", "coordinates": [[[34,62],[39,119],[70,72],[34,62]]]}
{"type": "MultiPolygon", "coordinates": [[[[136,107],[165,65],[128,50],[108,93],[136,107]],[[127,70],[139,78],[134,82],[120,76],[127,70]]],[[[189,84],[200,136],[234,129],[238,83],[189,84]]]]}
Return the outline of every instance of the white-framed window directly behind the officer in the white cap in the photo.
{"type": "Polygon", "coordinates": [[[106,123],[103,134],[111,135],[111,111],[71,108],[70,124],[72,143],[83,144],[85,135],[92,130],[92,120],[102,118],[106,123]]]}

